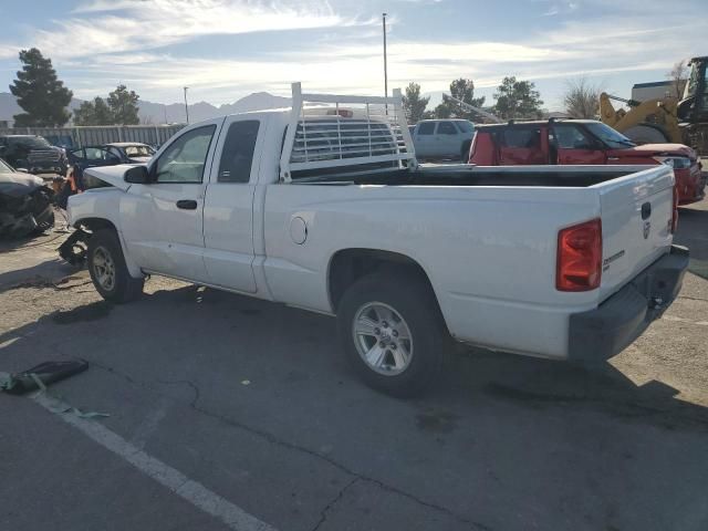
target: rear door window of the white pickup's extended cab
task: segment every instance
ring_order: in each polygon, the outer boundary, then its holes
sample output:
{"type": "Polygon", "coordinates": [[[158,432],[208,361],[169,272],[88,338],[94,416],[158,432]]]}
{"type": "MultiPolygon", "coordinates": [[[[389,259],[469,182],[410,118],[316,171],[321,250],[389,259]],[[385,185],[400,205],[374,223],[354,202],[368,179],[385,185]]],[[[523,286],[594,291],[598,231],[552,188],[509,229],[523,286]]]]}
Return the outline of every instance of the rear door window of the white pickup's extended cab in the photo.
{"type": "Polygon", "coordinates": [[[260,122],[248,119],[229,127],[219,163],[219,183],[248,183],[260,122]]]}

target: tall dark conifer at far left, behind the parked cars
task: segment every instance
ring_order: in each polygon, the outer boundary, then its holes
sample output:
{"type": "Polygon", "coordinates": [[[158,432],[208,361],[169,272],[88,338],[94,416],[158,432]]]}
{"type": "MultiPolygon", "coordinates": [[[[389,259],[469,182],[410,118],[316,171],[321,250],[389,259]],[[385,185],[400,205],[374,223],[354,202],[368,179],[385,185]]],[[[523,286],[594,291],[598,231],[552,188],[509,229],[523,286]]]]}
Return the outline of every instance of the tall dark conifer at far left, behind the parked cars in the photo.
{"type": "Polygon", "coordinates": [[[71,113],[66,106],[73,93],[56,77],[51,59],[32,48],[20,52],[20,62],[22,70],[10,85],[10,92],[25,112],[13,116],[14,125],[51,127],[69,122],[71,113]]]}

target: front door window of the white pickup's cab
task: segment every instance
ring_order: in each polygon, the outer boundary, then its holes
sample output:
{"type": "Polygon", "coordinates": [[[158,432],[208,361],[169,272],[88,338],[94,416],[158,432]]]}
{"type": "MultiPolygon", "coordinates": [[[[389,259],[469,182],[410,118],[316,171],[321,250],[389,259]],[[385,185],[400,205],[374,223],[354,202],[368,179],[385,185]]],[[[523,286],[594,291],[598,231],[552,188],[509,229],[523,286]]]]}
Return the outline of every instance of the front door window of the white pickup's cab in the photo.
{"type": "Polygon", "coordinates": [[[201,183],[216,128],[216,125],[197,127],[173,142],[157,159],[157,183],[201,183]]]}

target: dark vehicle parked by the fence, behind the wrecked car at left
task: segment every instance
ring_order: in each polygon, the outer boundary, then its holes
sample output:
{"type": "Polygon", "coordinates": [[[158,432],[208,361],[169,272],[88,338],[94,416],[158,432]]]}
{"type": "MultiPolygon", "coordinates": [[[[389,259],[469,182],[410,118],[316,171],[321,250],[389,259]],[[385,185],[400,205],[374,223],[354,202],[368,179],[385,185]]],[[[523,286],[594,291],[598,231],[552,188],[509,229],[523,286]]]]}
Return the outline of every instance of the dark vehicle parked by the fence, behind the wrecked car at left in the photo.
{"type": "Polygon", "coordinates": [[[0,157],[31,174],[66,173],[66,154],[38,135],[0,135],[0,157]]]}

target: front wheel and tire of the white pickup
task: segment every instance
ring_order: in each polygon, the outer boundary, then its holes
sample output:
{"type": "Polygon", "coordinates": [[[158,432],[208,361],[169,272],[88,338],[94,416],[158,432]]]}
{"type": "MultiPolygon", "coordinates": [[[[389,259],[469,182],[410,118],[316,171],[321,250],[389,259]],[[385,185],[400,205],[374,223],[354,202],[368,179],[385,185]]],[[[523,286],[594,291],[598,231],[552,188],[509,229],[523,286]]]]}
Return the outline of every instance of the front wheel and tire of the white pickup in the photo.
{"type": "Polygon", "coordinates": [[[87,258],[93,285],[106,301],[121,304],[140,296],[145,279],[131,277],[121,241],[113,229],[93,233],[88,239],[87,258]]]}

